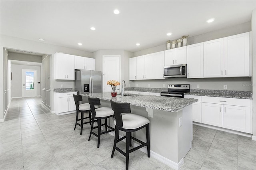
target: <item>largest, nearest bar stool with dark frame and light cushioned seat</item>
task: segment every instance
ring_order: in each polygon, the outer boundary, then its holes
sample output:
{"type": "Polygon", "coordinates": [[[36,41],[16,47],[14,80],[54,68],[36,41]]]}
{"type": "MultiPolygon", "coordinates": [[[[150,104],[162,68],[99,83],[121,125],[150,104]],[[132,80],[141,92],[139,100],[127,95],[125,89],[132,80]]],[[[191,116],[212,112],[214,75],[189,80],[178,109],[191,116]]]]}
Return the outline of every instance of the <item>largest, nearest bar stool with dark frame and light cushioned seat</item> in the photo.
{"type": "Polygon", "coordinates": [[[131,113],[130,103],[116,103],[110,100],[111,107],[115,113],[115,139],[114,139],[114,146],[111,154],[111,158],[113,158],[115,150],[118,150],[121,154],[126,156],[126,170],[128,170],[129,166],[129,154],[139,148],[147,146],[148,149],[148,158],[150,158],[150,142],[149,142],[149,120],[145,117],[135,114],[125,114],[122,113],[131,113]],[[147,142],[142,142],[137,138],[132,137],[132,132],[140,130],[146,127],[146,140],[147,142]],[[119,139],[119,132],[121,130],[126,132],[126,136],[123,136],[119,139]],[[118,142],[126,138],[126,153],[122,151],[120,148],[116,146],[118,142]],[[140,142],[141,145],[137,146],[130,150],[129,146],[132,146],[132,139],[140,142]]]}

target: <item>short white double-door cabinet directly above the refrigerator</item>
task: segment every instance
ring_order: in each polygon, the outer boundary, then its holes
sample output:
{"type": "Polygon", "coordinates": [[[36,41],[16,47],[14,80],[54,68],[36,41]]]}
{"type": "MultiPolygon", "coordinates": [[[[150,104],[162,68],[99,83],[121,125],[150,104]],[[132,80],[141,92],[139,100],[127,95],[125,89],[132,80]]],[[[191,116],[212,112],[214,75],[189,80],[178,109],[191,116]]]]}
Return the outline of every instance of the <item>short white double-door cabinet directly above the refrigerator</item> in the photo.
{"type": "Polygon", "coordinates": [[[95,70],[95,59],[75,55],[75,69],[95,70]]]}

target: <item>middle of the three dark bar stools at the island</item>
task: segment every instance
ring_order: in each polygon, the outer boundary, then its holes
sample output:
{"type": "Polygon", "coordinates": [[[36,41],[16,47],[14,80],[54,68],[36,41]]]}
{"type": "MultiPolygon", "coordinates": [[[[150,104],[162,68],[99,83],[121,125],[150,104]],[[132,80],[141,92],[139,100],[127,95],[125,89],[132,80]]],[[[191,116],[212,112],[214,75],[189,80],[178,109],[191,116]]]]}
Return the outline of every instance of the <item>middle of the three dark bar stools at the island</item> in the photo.
{"type": "Polygon", "coordinates": [[[100,135],[108,133],[108,132],[112,132],[115,130],[114,128],[107,125],[107,118],[114,117],[114,111],[110,107],[100,107],[95,110],[94,107],[100,105],[99,98],[88,97],[88,101],[89,101],[91,112],[92,112],[92,126],[91,126],[91,132],[90,132],[90,136],[89,136],[88,140],[90,140],[92,134],[95,135],[96,137],[98,137],[97,148],[99,148],[100,147],[100,135]],[[96,120],[94,120],[94,119],[96,119],[96,120]],[[102,119],[105,119],[105,123],[101,125],[102,119]],[[97,121],[98,126],[93,127],[94,121],[97,121]],[[101,132],[101,127],[104,125],[105,125],[105,132],[101,132]],[[92,132],[92,130],[95,128],[98,128],[98,134],[92,132]],[[110,128],[110,130],[107,130],[107,128],[110,128]]]}

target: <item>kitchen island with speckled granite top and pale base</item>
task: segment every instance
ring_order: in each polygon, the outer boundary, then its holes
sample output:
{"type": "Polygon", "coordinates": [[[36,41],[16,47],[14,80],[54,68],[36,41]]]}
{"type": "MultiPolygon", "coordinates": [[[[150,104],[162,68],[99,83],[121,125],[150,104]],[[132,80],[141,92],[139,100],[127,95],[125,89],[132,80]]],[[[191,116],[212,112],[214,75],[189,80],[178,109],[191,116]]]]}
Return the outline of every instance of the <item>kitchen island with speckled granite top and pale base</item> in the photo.
{"type": "MultiPolygon", "coordinates": [[[[172,168],[179,169],[192,143],[192,104],[197,99],[184,99],[149,95],[127,95],[111,97],[111,93],[90,93],[83,95],[100,98],[100,107],[111,107],[110,100],[130,103],[133,114],[150,120],[150,155],[172,168]]],[[[114,119],[109,125],[114,127],[114,119]]],[[[136,138],[146,141],[145,130],[132,133],[136,138]]],[[[114,135],[114,133],[112,133],[114,135]]],[[[124,134],[120,133],[120,136],[124,134]]],[[[138,144],[132,141],[133,146],[138,144]]],[[[146,152],[146,148],[141,148],[146,152]]]]}

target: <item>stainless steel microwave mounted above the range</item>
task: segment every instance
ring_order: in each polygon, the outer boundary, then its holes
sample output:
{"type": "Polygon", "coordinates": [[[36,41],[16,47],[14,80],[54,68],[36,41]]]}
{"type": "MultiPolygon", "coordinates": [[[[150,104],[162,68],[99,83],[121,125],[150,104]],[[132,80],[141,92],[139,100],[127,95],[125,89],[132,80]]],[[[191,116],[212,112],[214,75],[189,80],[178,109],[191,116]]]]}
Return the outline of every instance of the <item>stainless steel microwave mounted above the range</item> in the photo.
{"type": "Polygon", "coordinates": [[[187,64],[165,66],[164,78],[170,77],[187,77],[187,64]]]}

